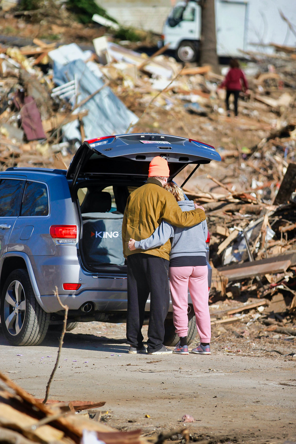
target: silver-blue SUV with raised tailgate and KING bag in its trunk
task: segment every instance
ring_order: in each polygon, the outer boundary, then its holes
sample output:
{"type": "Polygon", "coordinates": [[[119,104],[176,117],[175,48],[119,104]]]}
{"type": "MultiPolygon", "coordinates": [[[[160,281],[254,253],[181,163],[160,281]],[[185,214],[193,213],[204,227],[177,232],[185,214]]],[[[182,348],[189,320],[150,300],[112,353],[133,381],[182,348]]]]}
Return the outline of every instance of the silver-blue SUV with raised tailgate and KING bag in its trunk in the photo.
{"type": "MultiPolygon", "coordinates": [[[[40,344],[50,324],[62,324],[55,286],[69,306],[67,330],[78,321],[126,321],[122,217],[129,193],[145,183],[157,155],[167,159],[170,180],[188,164],[196,170],[221,160],[213,147],[192,139],[128,134],[85,141],[67,171],[0,173],[0,317],[12,345],[40,344]]],[[[146,321],[149,306],[148,299],[146,321]]],[[[192,340],[190,295],[189,307],[192,340]]],[[[171,310],[166,345],[178,340],[171,310]]]]}

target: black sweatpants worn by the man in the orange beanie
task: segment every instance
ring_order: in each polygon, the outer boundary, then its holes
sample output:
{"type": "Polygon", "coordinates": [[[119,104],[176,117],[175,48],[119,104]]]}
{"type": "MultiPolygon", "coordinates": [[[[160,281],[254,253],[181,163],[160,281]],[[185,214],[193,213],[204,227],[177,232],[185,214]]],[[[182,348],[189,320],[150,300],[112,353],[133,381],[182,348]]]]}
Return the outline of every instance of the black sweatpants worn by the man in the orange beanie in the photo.
{"type": "Polygon", "coordinates": [[[148,351],[162,348],[165,334],[164,321],[170,305],[169,261],[151,254],[136,253],[127,258],[127,320],[128,344],[141,348],[141,329],[145,305],[150,293],[148,351]]]}

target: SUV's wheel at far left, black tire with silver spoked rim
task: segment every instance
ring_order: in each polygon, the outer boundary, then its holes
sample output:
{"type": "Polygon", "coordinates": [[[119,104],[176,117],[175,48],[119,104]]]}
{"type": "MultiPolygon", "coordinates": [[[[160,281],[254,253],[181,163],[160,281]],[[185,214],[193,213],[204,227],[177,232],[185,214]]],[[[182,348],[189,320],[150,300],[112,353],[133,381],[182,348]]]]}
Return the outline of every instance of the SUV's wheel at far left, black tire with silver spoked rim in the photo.
{"type": "Polygon", "coordinates": [[[6,279],[0,299],[0,318],[3,334],[10,344],[39,345],[43,341],[50,313],[46,313],[36,301],[27,270],[14,270],[6,279]],[[19,297],[16,297],[16,293],[19,297]],[[10,295],[12,299],[9,299],[10,295]],[[15,306],[8,300],[15,300],[15,306]],[[8,321],[8,317],[11,321],[8,321]]]}

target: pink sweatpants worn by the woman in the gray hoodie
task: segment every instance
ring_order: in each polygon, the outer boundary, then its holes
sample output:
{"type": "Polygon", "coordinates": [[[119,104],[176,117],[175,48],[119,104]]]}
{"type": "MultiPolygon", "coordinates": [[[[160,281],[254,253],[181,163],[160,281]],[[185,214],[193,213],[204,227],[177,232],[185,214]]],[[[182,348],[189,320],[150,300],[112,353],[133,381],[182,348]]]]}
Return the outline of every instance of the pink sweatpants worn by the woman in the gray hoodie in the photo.
{"type": "Polygon", "coordinates": [[[179,337],[188,333],[188,289],[196,317],[201,342],[211,340],[209,315],[208,267],[170,267],[170,295],[173,303],[173,321],[179,337]]]}

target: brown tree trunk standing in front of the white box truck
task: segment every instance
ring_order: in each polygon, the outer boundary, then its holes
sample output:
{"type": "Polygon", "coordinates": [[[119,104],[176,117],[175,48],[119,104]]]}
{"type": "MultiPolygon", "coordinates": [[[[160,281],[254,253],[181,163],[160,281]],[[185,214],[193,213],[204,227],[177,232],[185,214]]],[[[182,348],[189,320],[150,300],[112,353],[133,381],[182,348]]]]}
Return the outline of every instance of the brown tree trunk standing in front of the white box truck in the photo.
{"type": "Polygon", "coordinates": [[[215,26],[215,1],[201,1],[201,58],[202,65],[211,65],[212,71],[220,73],[215,26]]]}

